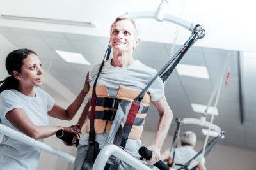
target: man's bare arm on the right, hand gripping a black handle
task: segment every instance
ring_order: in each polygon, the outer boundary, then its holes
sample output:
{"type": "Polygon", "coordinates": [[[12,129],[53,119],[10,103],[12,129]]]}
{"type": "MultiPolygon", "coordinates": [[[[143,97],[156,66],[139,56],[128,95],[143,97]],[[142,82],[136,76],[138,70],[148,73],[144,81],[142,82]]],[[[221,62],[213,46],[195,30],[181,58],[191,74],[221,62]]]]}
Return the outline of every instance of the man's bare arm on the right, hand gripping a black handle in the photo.
{"type": "Polygon", "coordinates": [[[148,160],[150,164],[154,164],[161,159],[160,150],[173,118],[172,110],[170,109],[165,96],[161,97],[161,99],[157,101],[154,101],[153,104],[156,106],[160,118],[154,141],[152,145],[148,146],[148,149],[152,150],[152,159],[148,160]]]}

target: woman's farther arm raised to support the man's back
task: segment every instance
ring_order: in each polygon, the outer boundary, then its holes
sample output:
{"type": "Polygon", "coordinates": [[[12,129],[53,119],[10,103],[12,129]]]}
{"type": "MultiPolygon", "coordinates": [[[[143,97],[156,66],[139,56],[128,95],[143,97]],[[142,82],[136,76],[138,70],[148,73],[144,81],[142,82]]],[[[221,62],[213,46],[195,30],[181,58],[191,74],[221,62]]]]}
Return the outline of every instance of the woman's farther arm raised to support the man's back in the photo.
{"type": "Polygon", "coordinates": [[[72,120],[72,118],[74,118],[78,109],[80,108],[81,104],[83,103],[84,97],[89,91],[90,85],[88,76],[89,74],[87,73],[83,89],[66,110],[61,106],[58,106],[58,104],[54,104],[53,108],[48,111],[48,115],[63,120],[72,120]]]}

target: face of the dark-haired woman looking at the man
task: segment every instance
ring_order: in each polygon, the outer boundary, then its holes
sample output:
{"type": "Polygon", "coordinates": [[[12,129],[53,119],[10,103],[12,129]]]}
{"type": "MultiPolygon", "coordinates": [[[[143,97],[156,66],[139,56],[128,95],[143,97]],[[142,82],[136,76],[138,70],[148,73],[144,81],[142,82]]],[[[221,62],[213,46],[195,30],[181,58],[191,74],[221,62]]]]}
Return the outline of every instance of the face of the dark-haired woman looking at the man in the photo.
{"type": "Polygon", "coordinates": [[[23,65],[19,73],[19,81],[21,85],[25,86],[40,86],[43,81],[43,71],[41,67],[41,62],[37,55],[31,53],[23,60],[23,65]]]}

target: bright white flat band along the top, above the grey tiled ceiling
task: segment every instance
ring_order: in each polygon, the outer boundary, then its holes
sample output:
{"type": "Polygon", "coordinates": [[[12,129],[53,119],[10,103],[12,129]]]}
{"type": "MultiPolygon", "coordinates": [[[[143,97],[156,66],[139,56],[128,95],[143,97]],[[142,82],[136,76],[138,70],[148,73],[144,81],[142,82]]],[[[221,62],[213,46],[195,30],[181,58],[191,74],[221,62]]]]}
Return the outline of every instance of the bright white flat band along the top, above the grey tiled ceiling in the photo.
{"type": "MultiPolygon", "coordinates": [[[[198,41],[195,46],[255,52],[256,23],[251,17],[256,15],[253,0],[168,0],[168,4],[163,2],[164,13],[204,27],[205,38],[198,41]]],[[[0,25],[107,37],[109,25],[117,16],[126,12],[156,11],[160,3],[161,0],[0,0],[0,14],[3,15],[92,22],[97,27],[70,27],[8,20],[1,16],[0,25]]],[[[140,20],[140,25],[143,40],[164,43],[172,41],[175,33],[173,30],[176,27],[175,24],[154,20],[140,20]],[[152,31],[157,34],[152,34],[152,31]]],[[[189,32],[182,28],[179,32],[182,36],[178,37],[177,43],[182,44],[189,32]]]]}

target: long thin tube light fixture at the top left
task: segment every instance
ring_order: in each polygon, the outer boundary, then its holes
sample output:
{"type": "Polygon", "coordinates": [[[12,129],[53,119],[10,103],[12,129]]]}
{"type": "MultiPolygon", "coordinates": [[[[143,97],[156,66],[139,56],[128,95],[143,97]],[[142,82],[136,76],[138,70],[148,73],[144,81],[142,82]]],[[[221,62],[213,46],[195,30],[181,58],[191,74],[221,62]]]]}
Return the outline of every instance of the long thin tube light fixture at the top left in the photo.
{"type": "Polygon", "coordinates": [[[3,15],[1,17],[8,20],[26,20],[32,22],[45,22],[51,24],[63,24],[63,25],[75,25],[75,26],[84,26],[84,27],[97,27],[97,24],[93,22],[80,22],[80,21],[73,21],[73,20],[57,20],[57,19],[50,19],[50,18],[36,18],[36,17],[22,17],[22,16],[15,16],[15,15],[3,15]]]}

